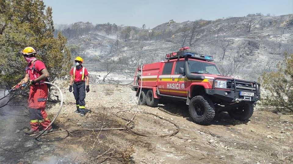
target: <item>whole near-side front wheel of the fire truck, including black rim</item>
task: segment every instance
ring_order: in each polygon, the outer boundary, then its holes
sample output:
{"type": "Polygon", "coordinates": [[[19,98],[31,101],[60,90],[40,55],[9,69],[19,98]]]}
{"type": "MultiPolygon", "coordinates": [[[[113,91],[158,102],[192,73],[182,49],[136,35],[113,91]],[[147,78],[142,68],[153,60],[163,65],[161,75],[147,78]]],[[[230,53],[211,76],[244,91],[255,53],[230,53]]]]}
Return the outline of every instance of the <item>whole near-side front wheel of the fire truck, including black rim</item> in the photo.
{"type": "Polygon", "coordinates": [[[205,96],[195,96],[189,103],[189,114],[197,124],[208,124],[215,117],[213,102],[205,96]]]}

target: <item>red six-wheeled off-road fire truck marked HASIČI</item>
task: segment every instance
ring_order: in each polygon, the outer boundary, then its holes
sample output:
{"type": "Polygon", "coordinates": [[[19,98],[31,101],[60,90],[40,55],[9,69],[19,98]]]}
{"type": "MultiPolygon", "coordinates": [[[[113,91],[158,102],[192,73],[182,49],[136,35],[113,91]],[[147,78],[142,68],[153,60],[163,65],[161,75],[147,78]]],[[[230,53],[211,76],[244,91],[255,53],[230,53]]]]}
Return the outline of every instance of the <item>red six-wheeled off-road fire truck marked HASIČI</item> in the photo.
{"type": "Polygon", "coordinates": [[[191,118],[208,124],[219,112],[247,120],[260,99],[260,84],[222,76],[213,57],[191,52],[189,47],[166,54],[166,60],[137,68],[133,91],[139,104],[156,107],[161,98],[186,101],[191,118]]]}

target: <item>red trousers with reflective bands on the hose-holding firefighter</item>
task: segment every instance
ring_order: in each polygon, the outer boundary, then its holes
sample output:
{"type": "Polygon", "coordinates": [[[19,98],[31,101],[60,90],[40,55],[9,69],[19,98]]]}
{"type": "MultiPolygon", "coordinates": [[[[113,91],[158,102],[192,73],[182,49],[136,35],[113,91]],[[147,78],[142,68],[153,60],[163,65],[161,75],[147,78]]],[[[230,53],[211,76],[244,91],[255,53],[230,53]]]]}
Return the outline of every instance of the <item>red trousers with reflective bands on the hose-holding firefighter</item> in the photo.
{"type": "MultiPolygon", "coordinates": [[[[28,98],[28,107],[31,119],[31,129],[38,131],[41,126],[43,129],[47,128],[50,120],[45,111],[48,97],[48,87],[46,84],[32,85],[30,95],[28,98]]],[[[49,127],[51,129],[52,127],[49,127]]]]}

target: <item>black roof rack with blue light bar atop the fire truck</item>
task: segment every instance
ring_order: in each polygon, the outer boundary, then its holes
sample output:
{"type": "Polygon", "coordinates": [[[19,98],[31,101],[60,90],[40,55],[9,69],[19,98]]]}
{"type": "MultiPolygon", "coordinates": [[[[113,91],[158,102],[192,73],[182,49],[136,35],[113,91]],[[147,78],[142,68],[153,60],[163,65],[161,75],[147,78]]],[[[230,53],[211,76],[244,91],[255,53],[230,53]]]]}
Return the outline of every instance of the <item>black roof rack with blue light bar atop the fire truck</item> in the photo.
{"type": "Polygon", "coordinates": [[[190,55],[190,58],[193,58],[193,59],[204,60],[204,61],[214,61],[213,56],[203,55],[200,53],[195,53],[195,52],[186,51],[186,50],[168,53],[166,54],[166,59],[167,60],[179,59],[179,58],[184,58],[187,55],[190,55]]]}

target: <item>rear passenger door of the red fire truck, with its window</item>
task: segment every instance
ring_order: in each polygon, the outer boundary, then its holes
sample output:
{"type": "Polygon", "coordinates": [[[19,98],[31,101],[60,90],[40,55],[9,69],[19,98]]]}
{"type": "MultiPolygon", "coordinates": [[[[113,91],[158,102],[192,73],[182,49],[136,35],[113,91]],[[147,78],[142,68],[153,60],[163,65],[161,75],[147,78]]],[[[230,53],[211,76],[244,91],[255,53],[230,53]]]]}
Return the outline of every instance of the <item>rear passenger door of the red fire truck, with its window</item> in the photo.
{"type": "Polygon", "coordinates": [[[165,63],[163,66],[163,71],[159,75],[158,79],[158,88],[160,91],[160,94],[166,94],[169,95],[169,84],[171,81],[171,73],[173,68],[174,62],[168,62],[165,63]]]}

